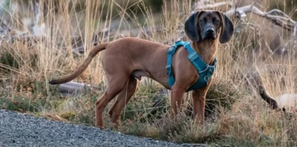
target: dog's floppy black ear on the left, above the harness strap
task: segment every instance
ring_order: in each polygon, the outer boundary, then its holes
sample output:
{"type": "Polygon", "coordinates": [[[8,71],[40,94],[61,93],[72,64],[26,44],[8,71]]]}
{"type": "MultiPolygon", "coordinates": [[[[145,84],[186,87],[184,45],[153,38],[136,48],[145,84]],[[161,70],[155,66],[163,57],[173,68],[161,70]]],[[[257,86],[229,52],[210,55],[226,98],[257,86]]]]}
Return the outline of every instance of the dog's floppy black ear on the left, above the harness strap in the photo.
{"type": "Polygon", "coordinates": [[[197,11],[192,14],[184,23],[186,35],[194,42],[199,41],[200,30],[197,28],[197,18],[203,11],[197,11]]]}

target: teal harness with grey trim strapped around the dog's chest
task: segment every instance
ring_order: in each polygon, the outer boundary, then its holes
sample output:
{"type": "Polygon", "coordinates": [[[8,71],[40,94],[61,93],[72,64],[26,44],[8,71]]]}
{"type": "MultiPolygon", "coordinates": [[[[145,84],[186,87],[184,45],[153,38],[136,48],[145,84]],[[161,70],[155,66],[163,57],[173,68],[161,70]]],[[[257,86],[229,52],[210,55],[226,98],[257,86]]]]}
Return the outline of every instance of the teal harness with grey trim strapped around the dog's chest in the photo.
{"type": "Polygon", "coordinates": [[[187,92],[191,90],[204,88],[205,86],[207,86],[210,77],[214,73],[214,70],[217,64],[217,59],[214,58],[213,65],[206,64],[200,58],[200,56],[192,49],[190,42],[183,42],[180,39],[178,39],[178,41],[176,41],[174,45],[170,46],[170,48],[167,51],[168,57],[167,57],[166,69],[167,69],[167,75],[169,76],[167,83],[169,84],[170,87],[172,87],[175,82],[172,68],[171,68],[171,62],[172,62],[173,54],[176,52],[176,49],[180,46],[183,46],[189,52],[188,59],[192,62],[192,64],[195,66],[195,68],[199,73],[199,79],[189,89],[187,89],[187,92]]]}

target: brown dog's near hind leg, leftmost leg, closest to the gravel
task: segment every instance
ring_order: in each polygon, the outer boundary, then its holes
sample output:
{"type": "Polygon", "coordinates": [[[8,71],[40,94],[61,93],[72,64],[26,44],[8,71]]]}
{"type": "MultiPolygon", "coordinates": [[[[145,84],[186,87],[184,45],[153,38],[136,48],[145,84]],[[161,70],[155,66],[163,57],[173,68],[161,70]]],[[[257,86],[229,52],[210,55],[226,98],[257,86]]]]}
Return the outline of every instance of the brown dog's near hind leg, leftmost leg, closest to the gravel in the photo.
{"type": "MultiPolygon", "coordinates": [[[[121,72],[119,72],[121,73],[121,72]]],[[[103,124],[102,120],[102,114],[104,111],[104,108],[110,102],[114,97],[116,97],[117,94],[119,94],[125,87],[129,75],[125,75],[123,73],[121,74],[116,74],[116,75],[106,75],[107,77],[107,82],[108,86],[107,89],[105,90],[104,94],[101,96],[100,99],[97,100],[95,103],[96,108],[95,108],[95,126],[100,127],[102,129],[105,129],[105,125],[103,124]]]]}

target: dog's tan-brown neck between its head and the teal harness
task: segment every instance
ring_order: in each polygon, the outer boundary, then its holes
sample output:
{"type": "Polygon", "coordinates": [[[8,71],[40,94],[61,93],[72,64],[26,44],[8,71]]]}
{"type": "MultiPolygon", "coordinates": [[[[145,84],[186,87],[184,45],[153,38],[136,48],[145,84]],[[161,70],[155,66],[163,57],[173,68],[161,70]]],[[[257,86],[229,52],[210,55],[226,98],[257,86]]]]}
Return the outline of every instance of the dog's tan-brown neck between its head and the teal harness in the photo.
{"type": "Polygon", "coordinates": [[[200,42],[191,41],[191,46],[199,54],[201,59],[207,64],[213,64],[217,51],[218,39],[202,40],[200,42]]]}

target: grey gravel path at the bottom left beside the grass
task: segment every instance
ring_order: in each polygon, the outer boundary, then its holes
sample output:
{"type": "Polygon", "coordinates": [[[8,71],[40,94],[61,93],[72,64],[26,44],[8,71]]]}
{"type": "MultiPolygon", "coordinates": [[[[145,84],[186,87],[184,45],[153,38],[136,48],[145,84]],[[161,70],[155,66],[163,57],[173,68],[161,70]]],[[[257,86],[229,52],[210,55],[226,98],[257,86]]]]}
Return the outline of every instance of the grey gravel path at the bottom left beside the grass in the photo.
{"type": "Polygon", "coordinates": [[[165,141],[155,141],[123,135],[95,127],[50,121],[30,115],[0,110],[1,147],[181,147],[165,141]]]}

